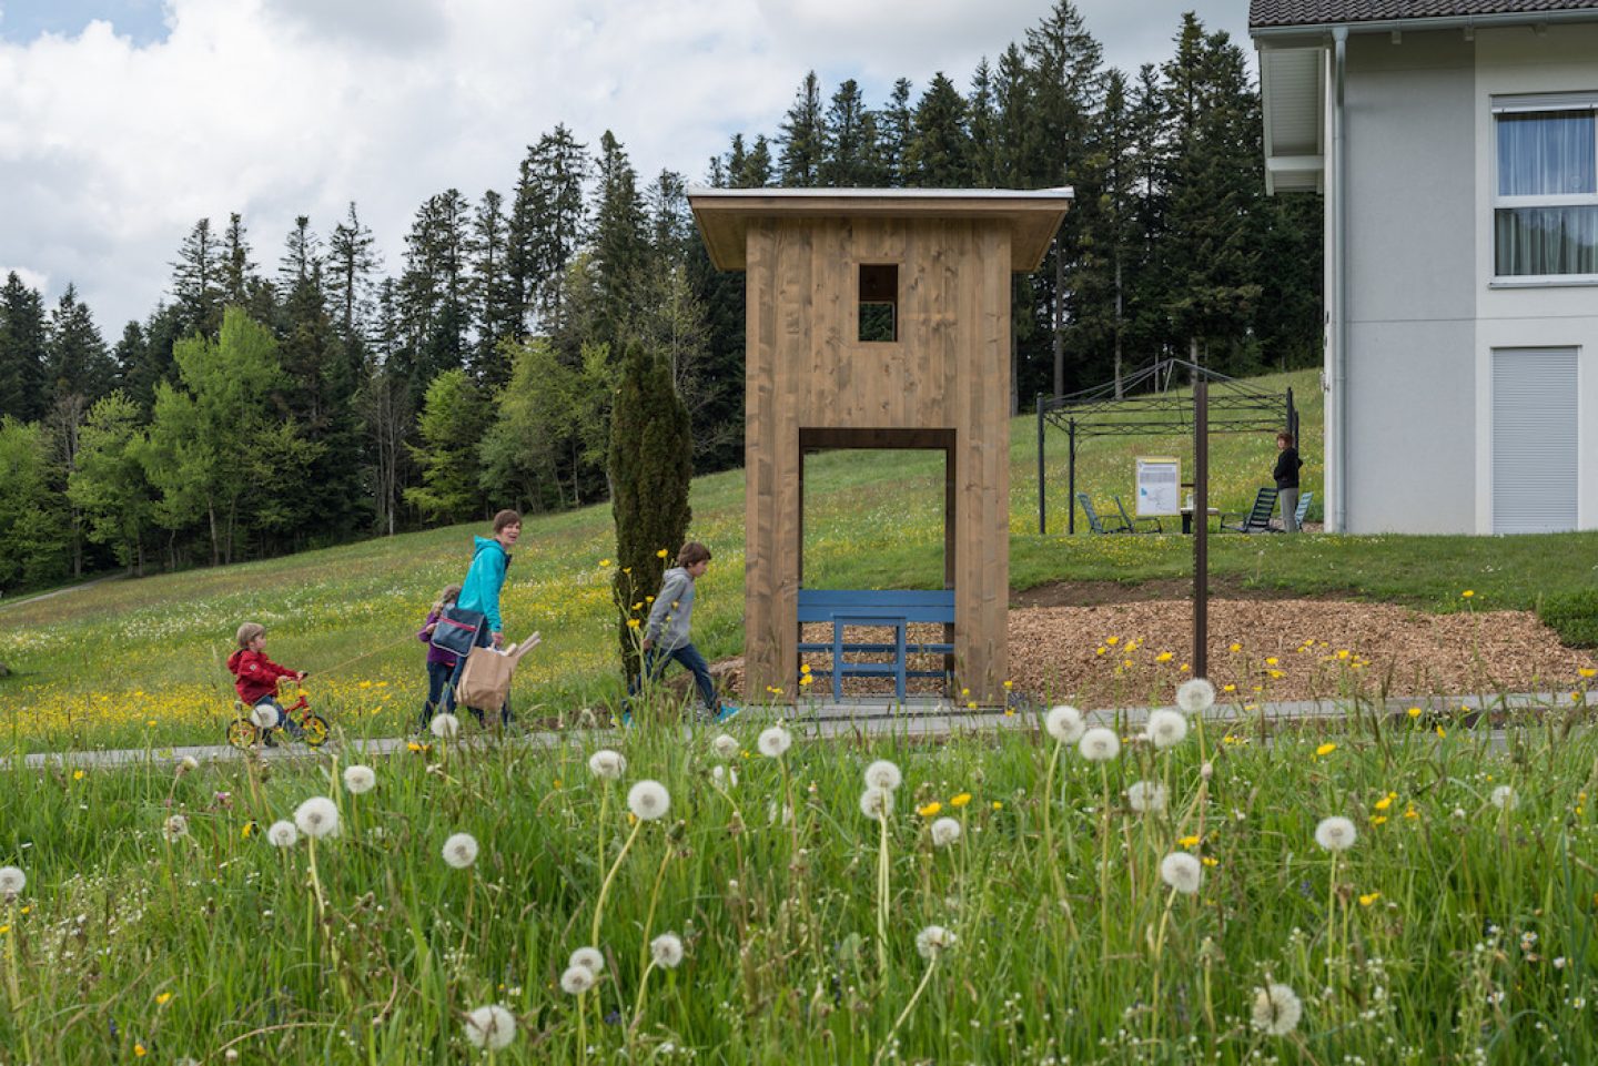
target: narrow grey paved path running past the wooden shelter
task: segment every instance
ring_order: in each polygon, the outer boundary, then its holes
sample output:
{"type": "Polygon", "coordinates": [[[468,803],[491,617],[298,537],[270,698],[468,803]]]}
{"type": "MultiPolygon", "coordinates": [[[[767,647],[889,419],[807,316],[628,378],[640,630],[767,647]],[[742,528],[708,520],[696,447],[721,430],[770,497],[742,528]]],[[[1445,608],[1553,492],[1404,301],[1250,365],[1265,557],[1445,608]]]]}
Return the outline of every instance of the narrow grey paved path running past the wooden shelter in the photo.
{"type": "MultiPolygon", "coordinates": [[[[1330,721],[1344,719],[1352,714],[1371,716],[1379,714],[1385,718],[1408,718],[1408,708],[1419,706],[1427,714],[1438,714],[1453,718],[1461,711],[1480,713],[1480,711],[1505,711],[1505,710],[1524,710],[1524,708],[1548,708],[1569,705],[1569,694],[1552,694],[1552,692],[1523,692],[1507,697],[1429,697],[1429,698],[1400,698],[1393,697],[1385,700],[1385,703],[1377,705],[1371,700],[1361,700],[1358,708],[1346,700],[1294,700],[1283,703],[1262,703],[1256,710],[1242,710],[1234,703],[1218,703],[1205,713],[1206,722],[1227,724],[1227,722],[1258,722],[1264,718],[1267,722],[1301,722],[1301,721],[1330,721]]],[[[1151,710],[1147,706],[1128,706],[1112,711],[1088,711],[1087,718],[1090,721],[1101,722],[1117,722],[1122,729],[1141,726],[1151,710]]],[[[1478,714],[1480,716],[1480,714],[1478,714]]],[[[761,708],[746,710],[738,719],[733,729],[748,729],[751,724],[765,724],[777,721],[777,714],[761,708]]],[[[802,708],[799,711],[785,716],[788,726],[805,738],[831,738],[831,737],[876,737],[885,734],[895,734],[901,737],[948,737],[954,734],[983,732],[994,729],[1021,729],[1034,727],[1037,724],[1037,711],[996,711],[996,710],[964,710],[957,708],[948,700],[911,700],[903,706],[873,702],[873,700],[847,700],[842,703],[821,703],[815,708],[802,708]]],[[[1473,721],[1473,719],[1470,719],[1473,721]]],[[[706,727],[708,729],[708,727],[706,727]]],[[[741,732],[741,730],[740,730],[741,732]]],[[[532,734],[515,734],[515,740],[534,746],[553,746],[559,743],[590,743],[596,735],[615,735],[614,730],[585,730],[570,729],[564,732],[532,732],[532,734]]],[[[1494,742],[1502,742],[1504,730],[1494,729],[1494,742]]],[[[388,754],[393,751],[403,751],[411,742],[409,737],[388,737],[379,740],[355,740],[348,742],[344,750],[352,753],[360,753],[361,758],[371,758],[379,754],[388,754]]],[[[489,742],[484,734],[473,729],[467,729],[460,743],[463,745],[481,745],[489,742]]],[[[328,745],[323,751],[339,750],[337,745],[328,745]]],[[[313,750],[304,745],[286,745],[281,748],[262,748],[260,754],[267,759],[304,759],[315,754],[313,750]]],[[[217,762],[224,759],[240,759],[243,753],[227,746],[227,745],[200,745],[189,748],[128,748],[120,751],[56,751],[56,753],[37,753],[29,754],[26,764],[29,769],[43,767],[74,767],[74,769],[94,769],[94,767],[117,767],[117,766],[134,766],[145,761],[168,762],[173,759],[182,759],[184,756],[193,756],[201,762],[217,762]]],[[[10,767],[10,759],[0,759],[0,767],[10,767]]]]}

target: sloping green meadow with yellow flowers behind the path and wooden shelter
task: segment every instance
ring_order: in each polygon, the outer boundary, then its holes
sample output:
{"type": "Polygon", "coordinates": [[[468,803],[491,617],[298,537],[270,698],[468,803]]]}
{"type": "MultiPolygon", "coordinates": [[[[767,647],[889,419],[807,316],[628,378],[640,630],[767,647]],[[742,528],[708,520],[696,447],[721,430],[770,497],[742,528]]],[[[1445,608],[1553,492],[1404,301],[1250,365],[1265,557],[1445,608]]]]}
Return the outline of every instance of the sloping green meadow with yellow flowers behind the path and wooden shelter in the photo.
{"type": "MultiPolygon", "coordinates": [[[[1314,372],[1258,379],[1293,385],[1302,403],[1304,487],[1320,495],[1320,392],[1314,372]]],[[[1133,460],[1178,454],[1173,436],[1091,438],[1079,486],[1107,503],[1130,499],[1133,460]]],[[[1213,438],[1211,497],[1242,511],[1269,479],[1266,433],[1213,438]]],[[[1192,543],[1165,537],[1064,537],[1066,440],[1048,435],[1047,537],[1037,534],[1036,420],[1012,425],[1012,587],[1139,583],[1191,574],[1192,543]]],[[[1186,476],[1186,475],[1184,475],[1186,476]]],[[[805,580],[815,587],[938,585],[941,460],[914,452],[831,452],[805,473],[805,580]]],[[[710,657],[743,647],[743,475],[695,479],[690,535],[716,553],[702,580],[695,642],[710,657]]],[[[1312,516],[1315,511],[1312,511],[1312,516]]],[[[420,703],[422,647],[412,639],[436,591],[460,580],[479,526],[457,526],[209,571],[107,582],[37,603],[0,604],[0,743],[10,748],[142,746],[217,742],[232,716],[222,660],[243,620],[270,630],[268,654],[313,673],[312,695],[352,735],[393,735],[420,703]]],[[[526,716],[570,718],[620,692],[609,507],[527,521],[505,590],[511,638],[543,646],[523,660],[526,716]]],[[[1571,642],[1598,628],[1598,534],[1542,537],[1224,537],[1211,539],[1216,580],[1293,593],[1338,593],[1454,611],[1539,609],[1571,642]],[[1576,595],[1576,599],[1561,599],[1576,595]],[[1587,596],[1587,598],[1580,598],[1587,596]],[[1563,606],[1560,606],[1563,604],[1563,606]]]]}

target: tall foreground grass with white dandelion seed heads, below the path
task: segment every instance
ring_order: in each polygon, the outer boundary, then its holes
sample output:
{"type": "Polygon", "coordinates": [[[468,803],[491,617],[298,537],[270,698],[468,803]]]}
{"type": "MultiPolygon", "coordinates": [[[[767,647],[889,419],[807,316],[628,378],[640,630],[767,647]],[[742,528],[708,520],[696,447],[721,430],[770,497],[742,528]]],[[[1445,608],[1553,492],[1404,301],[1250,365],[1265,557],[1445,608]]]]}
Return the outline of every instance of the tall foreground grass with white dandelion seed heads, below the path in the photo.
{"type": "Polygon", "coordinates": [[[374,761],[361,796],[328,756],[0,770],[0,865],[29,879],[0,901],[0,1061],[1598,1060],[1598,737],[1556,716],[1507,750],[1424,719],[1269,745],[1211,726],[1106,764],[1053,762],[1037,730],[799,743],[780,764],[757,729],[733,730],[724,786],[706,734],[649,726],[435,745],[374,761]],[[598,743],[628,759],[609,788],[586,769],[598,743]],[[858,804],[877,758],[904,775],[885,831],[858,804]],[[633,839],[642,778],[671,810],[633,839]],[[1128,809],[1136,780],[1165,783],[1165,813],[1128,809]],[[342,810],[337,837],[262,839],[313,796],[342,810]],[[949,847],[932,804],[964,826],[949,847]],[[173,813],[187,833],[166,841],[173,813]],[[1336,861],[1315,844],[1328,815],[1358,831],[1336,861]],[[452,869],[462,831],[481,852],[452,869]],[[1195,895],[1160,881],[1173,852],[1205,863],[1195,895]],[[559,978],[612,869],[606,969],[577,1000],[559,978]],[[916,949],[928,925],[954,933],[936,965],[916,949]],[[641,992],[668,930],[686,961],[641,992]],[[1288,1036],[1250,1021],[1267,981],[1302,999],[1288,1036]],[[486,1004],[518,1020],[492,1056],[463,1039],[486,1004]]]}

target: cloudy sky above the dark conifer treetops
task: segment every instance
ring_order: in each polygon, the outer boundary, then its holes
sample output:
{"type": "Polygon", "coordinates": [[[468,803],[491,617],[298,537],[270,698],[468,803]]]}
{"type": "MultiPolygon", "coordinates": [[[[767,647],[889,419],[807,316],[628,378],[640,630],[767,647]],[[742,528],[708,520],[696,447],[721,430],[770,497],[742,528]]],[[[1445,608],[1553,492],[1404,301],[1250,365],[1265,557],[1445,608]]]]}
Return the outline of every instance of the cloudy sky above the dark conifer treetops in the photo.
{"type": "MultiPolygon", "coordinates": [[[[385,272],[428,197],[510,193],[542,133],[610,129],[641,184],[775,134],[807,70],[869,105],[962,89],[1051,0],[0,0],[0,278],[72,283],[109,344],[182,238],[243,214],[273,273],[348,203],[385,272]]],[[[1077,0],[1109,66],[1170,58],[1181,13],[1248,48],[1246,0],[1077,0]]]]}

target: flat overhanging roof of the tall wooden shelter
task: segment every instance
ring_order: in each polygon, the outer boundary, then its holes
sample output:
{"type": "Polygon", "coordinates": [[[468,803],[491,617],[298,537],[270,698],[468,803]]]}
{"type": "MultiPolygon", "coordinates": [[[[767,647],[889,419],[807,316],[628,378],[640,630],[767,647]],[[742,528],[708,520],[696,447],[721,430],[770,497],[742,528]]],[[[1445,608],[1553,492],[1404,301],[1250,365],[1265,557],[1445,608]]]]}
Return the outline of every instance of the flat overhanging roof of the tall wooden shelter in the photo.
{"type": "Polygon", "coordinates": [[[756,219],[981,219],[1010,227],[1010,270],[1037,270],[1071,209],[1066,189],[689,189],[718,270],[748,267],[756,219]]]}

